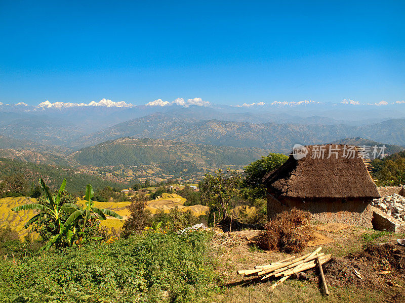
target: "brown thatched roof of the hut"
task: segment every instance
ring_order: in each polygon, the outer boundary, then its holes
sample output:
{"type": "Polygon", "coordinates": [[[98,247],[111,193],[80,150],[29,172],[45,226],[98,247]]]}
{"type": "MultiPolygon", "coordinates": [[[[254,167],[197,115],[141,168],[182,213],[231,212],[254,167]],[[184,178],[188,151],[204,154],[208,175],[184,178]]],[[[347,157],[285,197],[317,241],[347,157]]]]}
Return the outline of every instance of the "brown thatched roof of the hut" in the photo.
{"type": "Polygon", "coordinates": [[[357,150],[354,158],[344,157],[344,145],[329,159],[330,145],[325,146],[325,157],[312,159],[317,145],[305,146],[308,155],[296,160],[292,155],[277,170],[269,172],[263,183],[270,191],[283,197],[298,198],[378,198],[380,194],[357,150]]]}

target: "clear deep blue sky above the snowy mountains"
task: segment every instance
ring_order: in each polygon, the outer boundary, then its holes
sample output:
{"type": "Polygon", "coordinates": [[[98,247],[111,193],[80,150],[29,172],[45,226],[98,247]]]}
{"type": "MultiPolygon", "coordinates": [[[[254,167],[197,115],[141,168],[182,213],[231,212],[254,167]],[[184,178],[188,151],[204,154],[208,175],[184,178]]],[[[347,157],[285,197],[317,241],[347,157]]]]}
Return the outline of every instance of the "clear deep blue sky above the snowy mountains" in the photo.
{"type": "Polygon", "coordinates": [[[403,1],[0,0],[0,102],[405,99],[403,1]]]}

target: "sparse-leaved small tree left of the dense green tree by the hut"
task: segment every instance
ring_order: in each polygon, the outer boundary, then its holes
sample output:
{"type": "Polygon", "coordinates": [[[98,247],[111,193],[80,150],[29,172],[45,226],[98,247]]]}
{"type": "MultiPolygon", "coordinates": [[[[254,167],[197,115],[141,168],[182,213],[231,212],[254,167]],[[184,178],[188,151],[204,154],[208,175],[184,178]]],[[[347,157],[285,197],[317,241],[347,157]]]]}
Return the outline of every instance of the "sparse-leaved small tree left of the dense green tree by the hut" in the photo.
{"type": "Polygon", "coordinates": [[[210,208],[210,222],[214,213],[218,219],[222,217],[222,221],[228,221],[229,205],[238,198],[241,181],[241,174],[229,169],[226,174],[219,169],[214,175],[205,175],[198,187],[201,201],[210,208]]]}

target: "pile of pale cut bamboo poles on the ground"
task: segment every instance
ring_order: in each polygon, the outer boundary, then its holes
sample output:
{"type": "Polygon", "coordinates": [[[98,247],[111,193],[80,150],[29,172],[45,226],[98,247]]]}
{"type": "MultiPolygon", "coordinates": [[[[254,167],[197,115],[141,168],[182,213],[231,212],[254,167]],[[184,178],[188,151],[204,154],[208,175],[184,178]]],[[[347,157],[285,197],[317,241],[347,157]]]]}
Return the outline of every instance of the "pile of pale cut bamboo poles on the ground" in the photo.
{"type": "Polygon", "coordinates": [[[270,288],[273,289],[283,281],[290,278],[292,275],[318,266],[323,281],[323,286],[325,288],[325,293],[329,294],[325,276],[323,276],[322,264],[331,260],[331,255],[323,254],[323,252],[320,252],[321,249],[322,247],[318,247],[315,249],[315,251],[309,252],[309,254],[298,258],[292,256],[274,263],[256,265],[254,269],[238,270],[237,274],[244,276],[257,275],[261,277],[261,280],[281,277],[276,283],[271,285],[270,288]]]}

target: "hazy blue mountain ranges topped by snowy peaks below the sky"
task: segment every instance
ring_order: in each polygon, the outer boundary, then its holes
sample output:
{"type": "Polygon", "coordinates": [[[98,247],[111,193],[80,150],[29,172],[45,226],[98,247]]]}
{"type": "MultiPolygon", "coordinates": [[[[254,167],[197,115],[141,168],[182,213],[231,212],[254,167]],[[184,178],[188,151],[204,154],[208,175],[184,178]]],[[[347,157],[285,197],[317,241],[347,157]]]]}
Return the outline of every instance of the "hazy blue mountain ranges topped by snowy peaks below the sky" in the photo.
{"type": "MultiPolygon", "coordinates": [[[[143,106],[125,102],[0,105],[0,135],[77,150],[120,137],[197,144],[258,147],[288,153],[295,143],[348,137],[405,145],[405,104],[359,105],[314,101],[240,106],[200,98],[160,99],[143,106]]],[[[3,148],[10,146],[1,145],[3,148]]]]}

